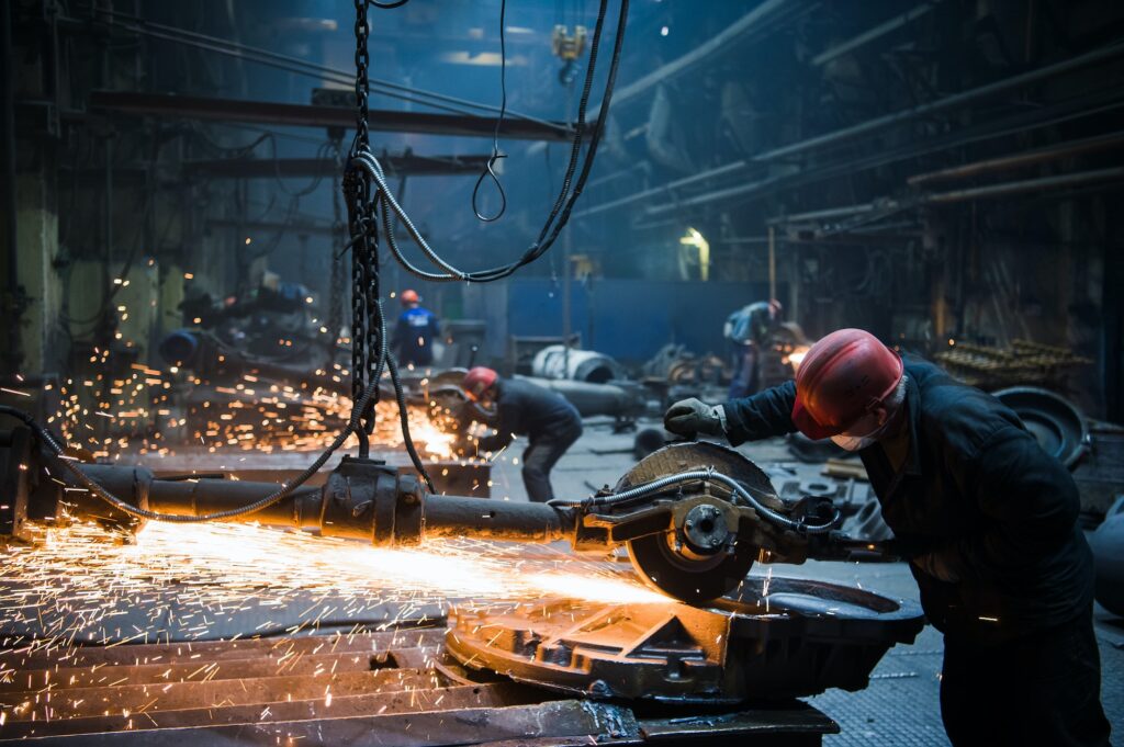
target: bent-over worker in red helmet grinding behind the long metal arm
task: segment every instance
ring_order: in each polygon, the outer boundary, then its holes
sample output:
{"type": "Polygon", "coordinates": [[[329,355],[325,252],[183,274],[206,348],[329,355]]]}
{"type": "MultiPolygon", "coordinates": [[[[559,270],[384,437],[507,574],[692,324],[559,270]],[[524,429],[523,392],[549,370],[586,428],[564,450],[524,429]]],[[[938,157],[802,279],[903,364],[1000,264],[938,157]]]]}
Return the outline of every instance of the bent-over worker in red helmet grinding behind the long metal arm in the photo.
{"type": "Polygon", "coordinates": [[[551,470],[581,436],[581,416],[561,394],[529,381],[501,379],[491,368],[478,366],[464,375],[464,393],[495,436],[481,438],[479,452],[498,452],[515,436],[531,441],[523,453],[523,484],[527,498],[544,503],[554,498],[551,470]]]}

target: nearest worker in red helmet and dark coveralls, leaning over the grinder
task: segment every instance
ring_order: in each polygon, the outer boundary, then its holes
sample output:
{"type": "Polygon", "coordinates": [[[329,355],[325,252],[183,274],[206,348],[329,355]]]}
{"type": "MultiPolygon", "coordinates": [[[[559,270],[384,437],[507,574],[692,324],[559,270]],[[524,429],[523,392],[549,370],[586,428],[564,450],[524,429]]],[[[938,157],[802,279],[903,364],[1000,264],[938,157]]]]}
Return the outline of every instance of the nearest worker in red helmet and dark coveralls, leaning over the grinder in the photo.
{"type": "Polygon", "coordinates": [[[799,430],[858,452],[944,634],[952,743],[1108,745],[1077,486],[998,400],[841,329],[795,382],[719,406],[677,402],[665,426],[734,445],[799,430]]]}

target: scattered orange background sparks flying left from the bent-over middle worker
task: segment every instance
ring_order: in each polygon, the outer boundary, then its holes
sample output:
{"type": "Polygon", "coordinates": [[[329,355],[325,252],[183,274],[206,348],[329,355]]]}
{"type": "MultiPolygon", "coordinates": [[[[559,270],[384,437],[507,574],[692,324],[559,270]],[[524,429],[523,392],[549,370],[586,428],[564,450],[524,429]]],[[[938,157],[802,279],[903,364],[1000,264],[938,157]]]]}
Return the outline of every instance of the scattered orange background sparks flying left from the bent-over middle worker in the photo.
{"type": "MultiPolygon", "coordinates": [[[[109,352],[94,348],[89,363],[108,366],[109,352]]],[[[336,389],[350,376],[338,364],[314,374],[332,380],[336,389]]],[[[47,425],[102,459],[133,453],[166,456],[184,445],[210,453],[316,452],[346,425],[352,407],[351,398],[309,382],[290,384],[245,374],[217,383],[175,366],[161,371],[143,364],[132,364],[127,374],[117,376],[91,373],[65,379],[57,388],[47,384],[43,393],[57,403],[47,425]]],[[[435,417],[438,409],[435,402],[409,406],[410,434],[423,456],[457,457],[455,435],[434,425],[443,421],[435,417]]],[[[384,448],[402,447],[396,402],[375,406],[372,440],[384,448]]],[[[345,448],[356,443],[352,437],[345,448]]]]}

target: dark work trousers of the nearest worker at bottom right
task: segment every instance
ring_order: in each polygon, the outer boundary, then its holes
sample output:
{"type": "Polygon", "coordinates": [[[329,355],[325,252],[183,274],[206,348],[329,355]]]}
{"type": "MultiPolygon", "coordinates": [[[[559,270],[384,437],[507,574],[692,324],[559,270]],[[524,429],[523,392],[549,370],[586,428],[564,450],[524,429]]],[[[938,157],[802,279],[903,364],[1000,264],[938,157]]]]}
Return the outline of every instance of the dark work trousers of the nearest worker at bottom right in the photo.
{"type": "Polygon", "coordinates": [[[996,646],[945,636],[941,717],[955,747],[1108,747],[1091,609],[996,646]]]}

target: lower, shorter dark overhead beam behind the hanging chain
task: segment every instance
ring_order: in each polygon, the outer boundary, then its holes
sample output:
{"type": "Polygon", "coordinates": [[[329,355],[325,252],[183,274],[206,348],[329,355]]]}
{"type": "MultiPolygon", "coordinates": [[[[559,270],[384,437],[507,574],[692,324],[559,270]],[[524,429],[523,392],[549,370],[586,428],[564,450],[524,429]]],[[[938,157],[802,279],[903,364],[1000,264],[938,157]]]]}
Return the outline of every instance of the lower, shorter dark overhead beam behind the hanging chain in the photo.
{"type": "MultiPolygon", "coordinates": [[[[479,174],[488,165],[487,155],[480,156],[417,156],[383,155],[379,163],[391,175],[448,176],[479,174]]],[[[299,179],[309,176],[337,176],[341,164],[333,158],[218,158],[188,161],[184,176],[212,179],[299,179]]]]}

